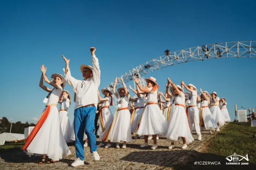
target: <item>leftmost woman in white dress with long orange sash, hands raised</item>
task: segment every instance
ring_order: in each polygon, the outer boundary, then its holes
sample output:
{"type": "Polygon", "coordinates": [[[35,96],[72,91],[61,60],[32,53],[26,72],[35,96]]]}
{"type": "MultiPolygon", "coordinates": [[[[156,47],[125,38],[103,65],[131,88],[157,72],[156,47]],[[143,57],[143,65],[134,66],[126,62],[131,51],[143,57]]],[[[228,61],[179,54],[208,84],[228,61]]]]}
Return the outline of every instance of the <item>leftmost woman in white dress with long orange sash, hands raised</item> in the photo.
{"type": "Polygon", "coordinates": [[[41,66],[41,71],[39,86],[49,92],[46,97],[48,100],[44,100],[47,102],[46,108],[22,148],[29,156],[42,155],[42,160],[38,164],[43,164],[46,156],[50,159],[47,163],[54,163],[62,159],[62,156],[71,154],[60,128],[59,112],[56,107],[65,86],[64,77],[61,74],[52,74],[51,82],[46,76],[44,65],[41,66]],[[43,79],[54,87],[53,90],[43,85],[43,79]]]}

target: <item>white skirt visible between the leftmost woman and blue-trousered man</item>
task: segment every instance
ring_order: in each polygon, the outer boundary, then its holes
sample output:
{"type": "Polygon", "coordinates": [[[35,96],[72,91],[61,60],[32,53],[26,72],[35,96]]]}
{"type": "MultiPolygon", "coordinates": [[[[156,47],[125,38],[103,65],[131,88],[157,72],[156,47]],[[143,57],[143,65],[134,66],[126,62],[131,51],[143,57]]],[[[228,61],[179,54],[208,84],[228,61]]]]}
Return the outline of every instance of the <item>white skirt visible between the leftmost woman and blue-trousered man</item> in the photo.
{"type": "Polygon", "coordinates": [[[63,133],[65,141],[71,142],[69,138],[69,132],[70,132],[70,122],[68,118],[68,111],[61,110],[59,111],[59,118],[60,118],[60,128],[63,133]]]}

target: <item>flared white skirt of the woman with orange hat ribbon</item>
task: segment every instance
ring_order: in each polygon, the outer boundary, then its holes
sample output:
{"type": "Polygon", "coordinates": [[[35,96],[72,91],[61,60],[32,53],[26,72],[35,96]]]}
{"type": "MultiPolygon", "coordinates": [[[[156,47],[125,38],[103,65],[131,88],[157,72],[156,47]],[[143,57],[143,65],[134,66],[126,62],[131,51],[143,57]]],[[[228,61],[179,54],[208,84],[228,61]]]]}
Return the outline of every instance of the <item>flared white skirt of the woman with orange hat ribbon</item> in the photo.
{"type": "Polygon", "coordinates": [[[168,130],[168,122],[163,116],[163,111],[156,104],[146,105],[142,113],[138,135],[158,134],[165,135],[168,130]]]}

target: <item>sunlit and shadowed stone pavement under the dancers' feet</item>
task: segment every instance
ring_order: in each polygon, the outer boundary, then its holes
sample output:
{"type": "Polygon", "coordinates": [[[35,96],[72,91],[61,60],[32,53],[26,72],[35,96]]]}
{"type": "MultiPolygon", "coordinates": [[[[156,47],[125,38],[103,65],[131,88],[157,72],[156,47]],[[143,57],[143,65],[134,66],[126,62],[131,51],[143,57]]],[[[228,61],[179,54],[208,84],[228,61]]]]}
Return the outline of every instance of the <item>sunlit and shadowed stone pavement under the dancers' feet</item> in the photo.
{"type": "MultiPolygon", "coordinates": [[[[148,148],[140,148],[144,143],[144,139],[133,139],[133,142],[127,144],[127,148],[115,148],[115,143],[112,143],[111,148],[98,148],[98,153],[101,157],[100,161],[93,161],[93,156],[90,153],[90,148],[85,148],[85,165],[71,167],[71,163],[75,159],[74,143],[69,146],[71,155],[54,164],[38,165],[38,160],[41,157],[28,157],[22,150],[12,150],[0,153],[0,169],[5,170],[53,170],[53,169],[86,169],[86,170],[167,170],[176,169],[180,164],[184,165],[193,158],[193,154],[199,150],[205,143],[217,133],[210,135],[209,131],[203,131],[202,141],[197,140],[197,136],[193,133],[195,141],[188,144],[187,149],[182,150],[182,141],[175,143],[175,148],[168,149],[170,142],[166,138],[157,140],[158,148],[151,150],[148,148]]],[[[97,144],[99,144],[97,139],[97,144]]],[[[149,145],[153,144],[153,140],[149,140],[149,145]]],[[[122,147],[123,144],[119,144],[122,147]]]]}

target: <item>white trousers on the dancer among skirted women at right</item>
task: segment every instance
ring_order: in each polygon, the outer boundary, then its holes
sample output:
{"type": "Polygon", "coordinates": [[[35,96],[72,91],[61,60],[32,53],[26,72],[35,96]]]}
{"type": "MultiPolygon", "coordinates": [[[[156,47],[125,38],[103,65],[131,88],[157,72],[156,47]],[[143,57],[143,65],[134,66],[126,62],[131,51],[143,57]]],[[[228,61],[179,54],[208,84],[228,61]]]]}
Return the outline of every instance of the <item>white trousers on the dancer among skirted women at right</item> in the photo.
{"type": "Polygon", "coordinates": [[[196,106],[188,108],[188,121],[190,126],[190,132],[193,133],[193,125],[197,135],[201,135],[199,125],[199,110],[196,106]]]}

